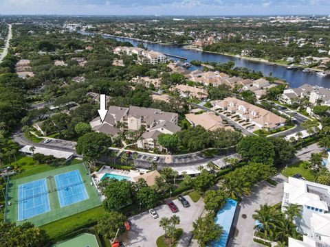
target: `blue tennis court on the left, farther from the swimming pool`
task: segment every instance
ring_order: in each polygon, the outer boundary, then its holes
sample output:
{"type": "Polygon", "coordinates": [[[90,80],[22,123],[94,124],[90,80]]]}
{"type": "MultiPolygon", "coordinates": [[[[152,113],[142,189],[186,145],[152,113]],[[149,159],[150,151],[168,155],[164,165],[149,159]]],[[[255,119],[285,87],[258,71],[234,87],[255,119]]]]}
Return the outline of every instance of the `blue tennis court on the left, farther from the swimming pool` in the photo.
{"type": "Polygon", "coordinates": [[[47,192],[46,179],[35,180],[19,185],[18,221],[50,211],[50,198],[47,192]]]}

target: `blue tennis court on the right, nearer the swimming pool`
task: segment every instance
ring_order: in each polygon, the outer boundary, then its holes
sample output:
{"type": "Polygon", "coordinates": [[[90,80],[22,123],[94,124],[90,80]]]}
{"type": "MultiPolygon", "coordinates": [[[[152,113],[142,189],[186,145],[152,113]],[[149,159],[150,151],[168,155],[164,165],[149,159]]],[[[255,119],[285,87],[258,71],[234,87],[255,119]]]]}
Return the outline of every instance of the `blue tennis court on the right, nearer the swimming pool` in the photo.
{"type": "Polygon", "coordinates": [[[78,169],[56,175],[55,183],[60,207],[88,199],[88,194],[78,169]]]}

